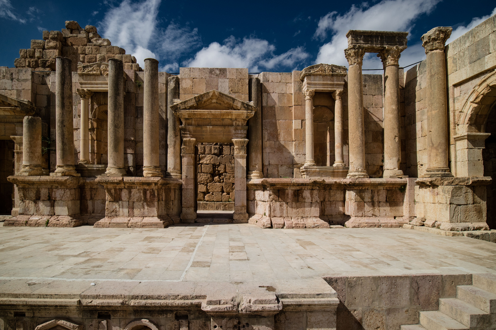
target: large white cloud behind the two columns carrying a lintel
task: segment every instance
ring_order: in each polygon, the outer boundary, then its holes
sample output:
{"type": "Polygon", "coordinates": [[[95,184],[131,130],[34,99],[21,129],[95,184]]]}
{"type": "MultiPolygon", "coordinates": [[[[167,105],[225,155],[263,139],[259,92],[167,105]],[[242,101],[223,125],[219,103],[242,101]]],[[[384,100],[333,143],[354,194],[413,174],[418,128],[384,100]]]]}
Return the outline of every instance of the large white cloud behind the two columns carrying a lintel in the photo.
{"type": "MultiPolygon", "coordinates": [[[[338,15],[335,11],[326,14],[320,18],[314,38],[324,40],[329,33],[332,37],[330,42],[320,47],[316,63],[348,66],[344,56],[344,49],[348,47],[348,30],[410,31],[415,19],[421,14],[429,13],[437,2],[439,0],[382,0],[372,6],[367,2],[360,7],[352,5],[343,15],[338,15]]],[[[413,49],[413,52],[407,50],[402,53],[400,65],[404,62],[404,57],[411,58],[411,54],[418,53],[418,49],[413,49]]],[[[364,69],[380,67],[382,63],[375,54],[364,58],[364,69]]]]}

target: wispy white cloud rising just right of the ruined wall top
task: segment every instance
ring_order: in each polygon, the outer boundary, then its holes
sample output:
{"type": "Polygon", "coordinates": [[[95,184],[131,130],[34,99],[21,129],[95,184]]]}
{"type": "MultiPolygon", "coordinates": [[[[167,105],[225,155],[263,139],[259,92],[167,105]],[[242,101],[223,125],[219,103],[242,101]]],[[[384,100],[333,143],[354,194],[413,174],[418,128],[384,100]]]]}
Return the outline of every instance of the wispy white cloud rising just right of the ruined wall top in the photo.
{"type": "Polygon", "coordinates": [[[156,31],[159,4],[160,0],[136,3],[124,0],[107,11],[99,24],[99,29],[104,31],[103,37],[132,53],[141,67],[145,58],[157,58],[149,44],[156,31]]]}

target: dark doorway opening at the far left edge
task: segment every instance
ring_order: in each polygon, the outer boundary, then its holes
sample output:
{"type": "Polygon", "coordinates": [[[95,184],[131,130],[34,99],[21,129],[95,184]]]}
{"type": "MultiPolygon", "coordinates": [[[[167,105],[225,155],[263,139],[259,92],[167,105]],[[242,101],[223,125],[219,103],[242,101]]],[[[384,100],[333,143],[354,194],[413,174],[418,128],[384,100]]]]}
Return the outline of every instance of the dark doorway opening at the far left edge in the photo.
{"type": "Polygon", "coordinates": [[[14,141],[0,140],[0,215],[12,212],[14,185],[7,177],[14,175],[14,141]]]}

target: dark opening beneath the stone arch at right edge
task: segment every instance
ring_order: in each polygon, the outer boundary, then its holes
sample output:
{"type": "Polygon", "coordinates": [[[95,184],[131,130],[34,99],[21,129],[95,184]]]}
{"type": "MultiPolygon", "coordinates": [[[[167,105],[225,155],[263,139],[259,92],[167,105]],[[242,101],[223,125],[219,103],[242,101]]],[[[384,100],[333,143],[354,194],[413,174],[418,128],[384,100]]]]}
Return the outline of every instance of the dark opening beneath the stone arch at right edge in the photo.
{"type": "Polygon", "coordinates": [[[496,229],[496,103],[493,104],[486,121],[486,133],[491,133],[486,139],[486,147],[482,149],[484,161],[484,176],[491,177],[493,182],[487,186],[487,224],[496,229]]]}

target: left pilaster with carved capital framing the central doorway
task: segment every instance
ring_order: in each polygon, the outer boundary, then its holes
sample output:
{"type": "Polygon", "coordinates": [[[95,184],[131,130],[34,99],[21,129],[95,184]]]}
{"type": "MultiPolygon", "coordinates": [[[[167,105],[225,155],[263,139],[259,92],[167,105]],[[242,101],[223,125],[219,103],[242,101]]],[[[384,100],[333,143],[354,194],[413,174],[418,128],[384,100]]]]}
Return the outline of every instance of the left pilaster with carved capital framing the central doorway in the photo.
{"type": "Polygon", "coordinates": [[[181,213],[181,220],[183,222],[193,223],[196,219],[196,197],[195,197],[195,184],[194,174],[196,167],[196,158],[194,156],[194,145],[196,139],[185,138],[183,139],[183,146],[181,147],[181,159],[183,164],[183,212],[181,213]]]}

